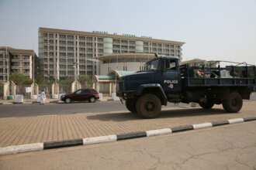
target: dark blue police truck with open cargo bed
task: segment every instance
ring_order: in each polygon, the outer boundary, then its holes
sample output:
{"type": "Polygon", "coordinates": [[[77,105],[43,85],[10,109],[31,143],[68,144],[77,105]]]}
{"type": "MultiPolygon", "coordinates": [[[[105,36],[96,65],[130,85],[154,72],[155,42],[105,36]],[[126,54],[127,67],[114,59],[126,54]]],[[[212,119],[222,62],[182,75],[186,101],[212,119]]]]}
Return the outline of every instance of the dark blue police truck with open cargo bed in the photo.
{"type": "Polygon", "coordinates": [[[144,71],[121,77],[116,88],[127,109],[144,118],[158,117],[168,102],[195,102],[203,109],[222,104],[236,113],[256,91],[256,67],[222,61],[180,65],[178,57],[156,55],[144,71]]]}

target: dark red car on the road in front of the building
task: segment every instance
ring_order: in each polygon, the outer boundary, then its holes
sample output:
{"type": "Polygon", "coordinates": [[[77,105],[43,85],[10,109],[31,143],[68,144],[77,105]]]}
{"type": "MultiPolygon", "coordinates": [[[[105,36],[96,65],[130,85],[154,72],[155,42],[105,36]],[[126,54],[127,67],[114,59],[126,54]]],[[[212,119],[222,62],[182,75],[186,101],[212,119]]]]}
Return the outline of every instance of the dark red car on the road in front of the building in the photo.
{"type": "Polygon", "coordinates": [[[99,93],[94,89],[79,89],[74,91],[74,93],[62,95],[61,100],[67,104],[72,101],[88,101],[94,103],[96,100],[99,100],[99,93]]]}

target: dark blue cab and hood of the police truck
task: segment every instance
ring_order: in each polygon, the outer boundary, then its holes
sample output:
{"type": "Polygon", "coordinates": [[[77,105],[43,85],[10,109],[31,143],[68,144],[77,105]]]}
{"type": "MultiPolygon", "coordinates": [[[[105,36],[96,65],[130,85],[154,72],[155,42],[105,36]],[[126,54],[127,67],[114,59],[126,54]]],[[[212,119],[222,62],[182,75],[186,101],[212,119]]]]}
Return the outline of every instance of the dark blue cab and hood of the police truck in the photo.
{"type": "MultiPolygon", "coordinates": [[[[178,57],[157,56],[151,59],[145,64],[144,71],[123,76],[116,91],[117,96],[126,100],[126,107],[133,113],[140,113],[136,103],[144,94],[154,99],[157,97],[158,108],[159,105],[166,105],[168,100],[179,101],[182,85],[178,57]]],[[[151,110],[153,114],[156,107],[154,101],[147,102],[146,105],[146,110],[151,110]]]]}

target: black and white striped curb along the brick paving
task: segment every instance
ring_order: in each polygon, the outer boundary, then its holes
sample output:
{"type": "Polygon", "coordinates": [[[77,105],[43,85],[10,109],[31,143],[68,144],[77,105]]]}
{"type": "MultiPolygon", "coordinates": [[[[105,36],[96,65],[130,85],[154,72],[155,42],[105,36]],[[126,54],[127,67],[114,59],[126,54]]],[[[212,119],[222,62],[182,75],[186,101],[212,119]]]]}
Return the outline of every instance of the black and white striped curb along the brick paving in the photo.
{"type": "Polygon", "coordinates": [[[112,134],[107,136],[99,136],[99,137],[92,137],[92,138],[81,138],[81,139],[74,139],[74,140],[67,140],[67,141],[47,141],[42,143],[34,143],[34,144],[26,144],[26,145],[14,145],[8,146],[5,148],[0,148],[0,155],[9,155],[27,151],[41,151],[51,148],[64,148],[64,147],[71,147],[77,145],[92,145],[92,144],[99,144],[99,143],[106,143],[111,141],[121,141],[126,139],[132,138],[144,138],[150,136],[157,136],[161,134],[172,134],[178,133],[182,131],[192,131],[196,129],[202,128],[211,128],[216,126],[222,126],[227,124],[237,124],[246,121],[256,121],[256,116],[254,117],[244,117],[244,118],[234,118],[229,119],[227,121],[213,121],[213,122],[206,122],[202,124],[189,124],[189,125],[182,125],[174,128],[162,128],[157,130],[150,130],[150,131],[137,131],[131,132],[126,134],[112,134]]]}

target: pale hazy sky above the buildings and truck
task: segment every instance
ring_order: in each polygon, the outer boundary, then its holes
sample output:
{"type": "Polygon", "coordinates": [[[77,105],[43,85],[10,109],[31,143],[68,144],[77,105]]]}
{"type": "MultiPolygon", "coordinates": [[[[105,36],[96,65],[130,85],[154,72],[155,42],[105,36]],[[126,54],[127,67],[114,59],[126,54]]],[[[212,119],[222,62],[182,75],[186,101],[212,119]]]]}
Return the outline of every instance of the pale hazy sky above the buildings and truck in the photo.
{"type": "Polygon", "coordinates": [[[256,64],[256,0],[0,0],[0,46],[38,52],[38,28],[185,42],[183,59],[256,64]]]}

